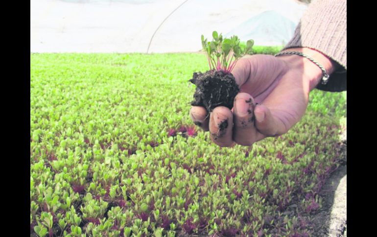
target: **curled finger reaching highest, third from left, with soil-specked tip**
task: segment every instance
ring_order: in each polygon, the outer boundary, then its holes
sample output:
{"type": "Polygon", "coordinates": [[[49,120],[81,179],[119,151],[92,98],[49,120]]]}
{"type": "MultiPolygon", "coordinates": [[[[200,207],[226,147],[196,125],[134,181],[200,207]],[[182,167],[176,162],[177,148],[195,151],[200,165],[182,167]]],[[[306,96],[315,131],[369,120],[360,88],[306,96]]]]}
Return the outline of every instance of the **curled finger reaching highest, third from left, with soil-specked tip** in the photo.
{"type": "Polygon", "coordinates": [[[255,102],[251,95],[237,94],[234,102],[233,140],[239,145],[251,146],[263,138],[254,125],[254,108],[255,102]]]}

